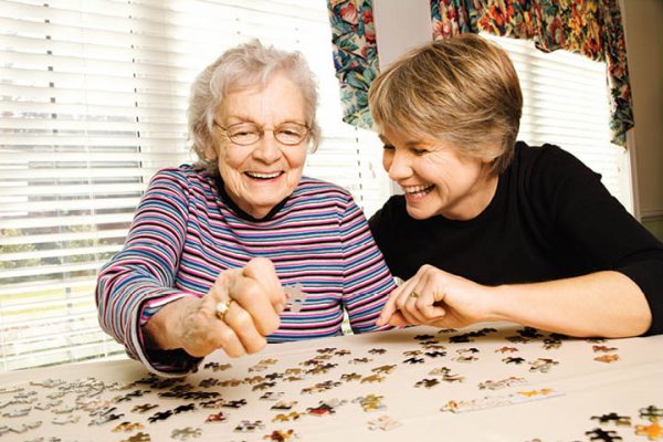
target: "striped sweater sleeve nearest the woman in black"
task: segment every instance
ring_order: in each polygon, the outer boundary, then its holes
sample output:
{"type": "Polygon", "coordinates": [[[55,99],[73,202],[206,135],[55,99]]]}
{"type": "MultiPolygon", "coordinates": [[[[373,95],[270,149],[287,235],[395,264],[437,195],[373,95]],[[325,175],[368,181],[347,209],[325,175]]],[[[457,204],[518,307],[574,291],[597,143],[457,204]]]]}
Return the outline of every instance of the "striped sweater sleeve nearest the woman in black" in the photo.
{"type": "Polygon", "coordinates": [[[396,284],[376,245],[364,212],[351,197],[340,220],[344,304],[355,333],[386,330],[376,320],[396,284]]]}

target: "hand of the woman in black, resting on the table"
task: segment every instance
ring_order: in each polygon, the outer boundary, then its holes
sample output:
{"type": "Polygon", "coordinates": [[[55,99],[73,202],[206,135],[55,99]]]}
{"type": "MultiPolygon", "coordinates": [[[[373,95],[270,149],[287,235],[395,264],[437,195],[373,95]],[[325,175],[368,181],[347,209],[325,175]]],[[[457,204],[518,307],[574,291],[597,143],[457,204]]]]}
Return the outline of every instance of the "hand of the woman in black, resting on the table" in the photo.
{"type": "Polygon", "coordinates": [[[377,324],[465,327],[491,320],[491,287],[422,265],[414,276],[391,292],[377,324]]]}

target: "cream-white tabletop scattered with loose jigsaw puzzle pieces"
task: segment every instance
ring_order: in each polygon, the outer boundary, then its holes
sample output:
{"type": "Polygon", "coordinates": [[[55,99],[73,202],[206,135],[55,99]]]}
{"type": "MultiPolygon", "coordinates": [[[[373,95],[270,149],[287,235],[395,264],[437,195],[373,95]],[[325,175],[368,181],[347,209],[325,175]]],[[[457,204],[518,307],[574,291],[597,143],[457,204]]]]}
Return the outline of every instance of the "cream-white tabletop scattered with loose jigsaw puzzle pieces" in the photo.
{"type": "MultiPolygon", "coordinates": [[[[272,434],[276,438],[275,431],[282,431],[282,434],[286,435],[284,440],[291,441],[588,441],[590,435],[586,432],[600,428],[603,431],[615,431],[623,441],[648,441],[646,435],[635,434],[635,425],[643,425],[641,430],[648,425],[655,429],[655,418],[650,421],[640,415],[640,410],[649,406],[663,408],[663,336],[612,339],[603,343],[564,339],[558,348],[555,348],[552,343],[552,348],[546,349],[544,339],[549,338],[549,334],[543,333],[543,337],[523,343],[507,339],[520,336],[518,330],[523,330],[523,327],[509,324],[482,324],[480,327],[453,333],[412,327],[272,345],[257,355],[240,359],[228,359],[218,352],[208,357],[197,373],[176,383],[189,383],[194,391],[202,391],[203,394],[220,394],[207,399],[165,398],[159,393],[177,390],[172,390],[172,386],[156,388],[158,386],[131,385],[146,377],[147,370],[140,364],[130,360],[6,372],[0,375],[0,406],[3,406],[0,408],[0,414],[3,414],[0,442],[32,441],[40,440],[39,438],[48,441],[51,436],[59,436],[61,441],[124,441],[131,440],[131,436],[140,440],[136,438],[138,433],[149,434],[151,441],[172,441],[178,440],[172,439],[173,431],[187,427],[199,435],[190,434],[188,439],[181,436],[180,440],[264,441],[270,440],[272,434]],[[450,343],[453,336],[484,327],[496,328],[496,332],[471,337],[473,341],[470,343],[450,343]],[[415,338],[427,334],[433,337],[423,340],[415,338]],[[427,348],[423,341],[429,341],[427,348]],[[593,346],[607,348],[594,350],[593,346]],[[379,349],[386,351],[379,354],[376,351],[379,349]],[[473,352],[472,349],[478,351],[473,352]],[[417,351],[423,352],[417,355],[417,351]],[[425,355],[427,351],[430,355],[425,355]],[[323,356],[328,359],[312,360],[322,355],[328,355],[323,356]],[[618,355],[619,359],[612,362],[594,359],[603,356],[610,359],[613,355],[618,355]],[[422,362],[404,362],[411,357],[420,358],[422,362]],[[523,358],[524,361],[520,365],[507,364],[505,359],[508,357],[523,358]],[[369,360],[360,362],[362,358],[369,360]],[[459,358],[476,360],[462,361],[459,358]],[[534,369],[535,366],[532,365],[538,358],[552,359],[558,364],[548,366],[548,371],[543,372],[540,369],[534,369]],[[306,361],[308,365],[305,365],[306,361]],[[352,361],[355,364],[351,364],[352,361]],[[214,371],[208,362],[230,364],[231,367],[214,371]],[[206,365],[207,368],[203,368],[206,365]],[[330,366],[325,369],[325,365],[330,366]],[[390,372],[373,371],[380,367],[382,371],[388,371],[388,367],[385,366],[394,367],[390,372]],[[316,373],[306,373],[306,370],[316,367],[316,373]],[[441,370],[438,370],[436,375],[431,373],[435,368],[442,367],[449,369],[448,381],[442,380],[441,370]],[[286,369],[291,369],[287,375],[286,369]],[[301,373],[296,375],[298,370],[301,373]],[[256,389],[262,379],[251,378],[266,377],[270,373],[284,377],[274,379],[273,387],[263,385],[264,390],[256,389]],[[359,378],[341,378],[343,375],[350,373],[359,375],[359,378]],[[382,380],[371,382],[370,380],[375,380],[371,378],[373,375],[382,380]],[[286,380],[285,377],[288,376],[299,376],[302,379],[286,380]],[[457,380],[460,377],[463,378],[462,381],[457,380]],[[82,382],[86,378],[93,379],[82,382]],[[48,379],[52,380],[51,385],[44,385],[44,380],[48,379]],[[208,383],[203,382],[201,387],[200,382],[206,379],[208,383]],[[434,379],[431,383],[435,383],[435,380],[439,383],[430,388],[415,387],[415,382],[423,379],[434,379]],[[505,381],[506,379],[511,379],[511,382],[505,381]],[[34,381],[41,385],[34,385],[34,381]],[[76,386],[75,381],[78,381],[77,389],[73,388],[76,386]],[[223,381],[224,385],[213,385],[223,381]],[[325,381],[329,381],[327,390],[319,386],[325,381]],[[486,381],[496,382],[503,388],[480,389],[480,383],[486,381]],[[20,391],[12,391],[21,388],[20,391]],[[307,389],[318,391],[309,392],[307,389]],[[125,397],[127,393],[135,393],[136,390],[150,392],[144,392],[141,397],[125,397]],[[63,391],[65,393],[57,398],[63,391]],[[297,403],[291,410],[272,410],[271,407],[276,402],[261,399],[267,391],[282,392],[280,400],[297,403]],[[77,394],[81,394],[81,398],[76,400],[77,394]],[[381,403],[385,408],[365,411],[356,399],[368,394],[382,396],[381,403]],[[509,404],[528,396],[530,399],[540,400],[509,404]],[[123,397],[124,400],[120,399],[123,397]],[[484,397],[491,399],[481,400],[484,397]],[[27,403],[11,403],[17,398],[27,403]],[[215,400],[208,403],[208,407],[221,407],[241,399],[244,399],[246,404],[238,409],[201,407],[206,401],[215,400]],[[59,400],[62,402],[56,404],[54,401],[59,400]],[[450,401],[462,407],[472,400],[475,401],[476,408],[486,402],[491,402],[493,407],[464,412],[441,411],[445,406],[449,408],[450,401]],[[307,409],[317,407],[320,401],[341,404],[334,408],[334,413],[308,414],[307,409]],[[158,407],[138,412],[136,407],[146,403],[158,407]],[[115,407],[116,409],[108,411],[106,415],[124,415],[98,425],[91,424],[99,417],[91,415],[91,410],[104,404],[108,408],[98,413],[115,407]],[[87,407],[87,410],[83,406],[87,407]],[[183,406],[182,411],[172,413],[166,420],[152,423],[148,421],[148,418],[157,412],[173,411],[180,406],[183,406]],[[9,417],[12,411],[25,408],[30,408],[25,415],[9,417]],[[186,411],[187,408],[193,410],[186,411]],[[223,413],[224,421],[206,422],[210,414],[218,412],[223,413]],[[299,418],[290,421],[273,420],[280,413],[287,417],[293,412],[299,413],[299,418]],[[614,421],[600,422],[591,419],[611,412],[630,418],[630,424],[618,425],[614,421]],[[368,422],[382,415],[396,421],[398,427],[390,430],[370,430],[368,422]],[[61,424],[54,423],[54,420],[75,422],[61,424]],[[242,420],[261,420],[264,427],[246,433],[234,431],[242,420]],[[39,427],[30,429],[31,424],[40,421],[39,427]],[[134,429],[114,432],[113,429],[122,422],[135,424],[134,429]],[[19,434],[13,431],[7,432],[7,428],[27,431],[19,434]],[[290,439],[288,430],[293,430],[294,433],[290,434],[290,439]],[[298,439],[295,439],[295,435],[298,439]]],[[[269,382],[270,379],[262,381],[269,382]]],[[[366,407],[371,408],[370,404],[366,407]]],[[[657,424],[663,425],[663,418],[657,424]]],[[[126,424],[125,427],[130,428],[126,424]]]]}

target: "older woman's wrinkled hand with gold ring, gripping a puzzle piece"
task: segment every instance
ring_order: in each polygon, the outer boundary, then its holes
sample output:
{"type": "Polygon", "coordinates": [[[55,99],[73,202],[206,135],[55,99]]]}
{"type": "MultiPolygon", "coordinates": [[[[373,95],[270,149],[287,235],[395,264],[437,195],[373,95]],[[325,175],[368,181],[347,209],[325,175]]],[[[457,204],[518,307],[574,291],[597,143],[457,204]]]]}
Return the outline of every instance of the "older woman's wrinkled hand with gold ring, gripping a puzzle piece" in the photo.
{"type": "MultiPolygon", "coordinates": [[[[270,260],[256,257],[243,269],[219,275],[201,298],[186,298],[178,312],[177,340],[189,355],[202,357],[222,348],[229,356],[253,354],[280,325],[285,293],[270,260]],[[217,305],[228,302],[223,318],[217,305]]],[[[175,303],[173,303],[175,304],[175,303]]]]}

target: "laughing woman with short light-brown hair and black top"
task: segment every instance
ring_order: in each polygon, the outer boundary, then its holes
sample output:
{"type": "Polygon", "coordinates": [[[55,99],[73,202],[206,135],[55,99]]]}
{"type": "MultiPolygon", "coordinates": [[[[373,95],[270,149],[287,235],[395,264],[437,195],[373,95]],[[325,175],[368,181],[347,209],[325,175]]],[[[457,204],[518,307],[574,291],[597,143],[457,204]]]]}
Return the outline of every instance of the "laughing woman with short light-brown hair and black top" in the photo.
{"type": "Polygon", "coordinates": [[[369,223],[407,280],[378,324],[662,333],[663,245],[570,154],[516,143],[522,102],[506,53],[474,34],[415,49],[372,83],[404,194],[369,223]]]}

